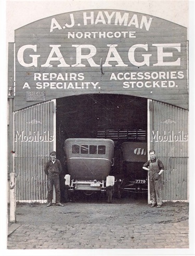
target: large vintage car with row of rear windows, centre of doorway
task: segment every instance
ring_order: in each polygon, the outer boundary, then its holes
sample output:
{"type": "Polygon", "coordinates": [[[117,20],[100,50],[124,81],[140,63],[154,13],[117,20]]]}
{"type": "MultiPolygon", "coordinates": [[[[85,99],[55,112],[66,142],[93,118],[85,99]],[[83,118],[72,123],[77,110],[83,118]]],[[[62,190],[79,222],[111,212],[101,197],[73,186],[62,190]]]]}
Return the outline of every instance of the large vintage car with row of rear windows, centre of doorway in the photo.
{"type": "Polygon", "coordinates": [[[112,202],[114,188],[121,195],[120,181],[110,176],[114,164],[114,142],[111,139],[69,138],[64,142],[68,174],[65,179],[66,200],[75,190],[83,190],[85,195],[94,192],[106,194],[112,202]]]}

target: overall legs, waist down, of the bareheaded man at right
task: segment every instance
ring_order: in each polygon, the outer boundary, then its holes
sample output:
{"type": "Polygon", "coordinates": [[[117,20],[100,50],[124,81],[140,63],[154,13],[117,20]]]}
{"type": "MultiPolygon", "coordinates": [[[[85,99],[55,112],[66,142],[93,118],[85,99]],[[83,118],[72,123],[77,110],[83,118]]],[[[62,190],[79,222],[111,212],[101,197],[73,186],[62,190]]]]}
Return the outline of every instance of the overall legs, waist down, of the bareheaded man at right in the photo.
{"type": "Polygon", "coordinates": [[[150,200],[152,204],[162,205],[161,198],[161,175],[157,172],[149,172],[149,183],[150,183],[150,200]]]}

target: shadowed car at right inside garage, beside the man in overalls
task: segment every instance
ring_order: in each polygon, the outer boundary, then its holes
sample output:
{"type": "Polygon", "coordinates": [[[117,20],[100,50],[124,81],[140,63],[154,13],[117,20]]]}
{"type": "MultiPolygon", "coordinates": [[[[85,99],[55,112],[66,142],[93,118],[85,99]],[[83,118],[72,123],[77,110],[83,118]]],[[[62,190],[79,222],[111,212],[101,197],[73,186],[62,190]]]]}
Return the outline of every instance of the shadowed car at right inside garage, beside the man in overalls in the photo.
{"type": "Polygon", "coordinates": [[[124,181],[122,190],[131,193],[148,193],[148,172],[142,169],[147,159],[147,143],[124,142],[122,169],[124,181]]]}

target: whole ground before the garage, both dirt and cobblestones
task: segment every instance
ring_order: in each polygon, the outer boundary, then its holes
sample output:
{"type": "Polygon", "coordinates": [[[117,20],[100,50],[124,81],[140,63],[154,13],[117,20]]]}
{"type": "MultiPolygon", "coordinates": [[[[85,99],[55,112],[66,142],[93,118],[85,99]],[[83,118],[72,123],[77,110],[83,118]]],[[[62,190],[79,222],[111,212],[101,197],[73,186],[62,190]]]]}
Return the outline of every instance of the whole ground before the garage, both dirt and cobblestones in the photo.
{"type": "Polygon", "coordinates": [[[17,222],[8,225],[7,249],[189,248],[187,208],[164,204],[154,209],[141,201],[70,202],[49,208],[21,204],[17,222]],[[140,214],[131,215],[136,211],[140,214]]]}

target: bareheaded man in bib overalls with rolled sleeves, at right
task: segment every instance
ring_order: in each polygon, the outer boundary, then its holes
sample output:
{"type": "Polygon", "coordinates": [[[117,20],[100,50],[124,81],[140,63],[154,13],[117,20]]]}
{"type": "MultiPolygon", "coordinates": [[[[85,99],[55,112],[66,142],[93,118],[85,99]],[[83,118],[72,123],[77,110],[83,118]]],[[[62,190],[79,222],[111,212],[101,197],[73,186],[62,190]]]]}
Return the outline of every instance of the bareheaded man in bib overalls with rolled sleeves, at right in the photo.
{"type": "Polygon", "coordinates": [[[163,163],[155,158],[155,151],[149,151],[150,160],[148,160],[144,165],[143,169],[149,171],[149,184],[150,184],[150,200],[152,202],[151,207],[157,205],[157,208],[162,206],[161,197],[161,174],[164,171],[163,163]]]}

